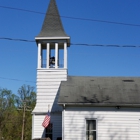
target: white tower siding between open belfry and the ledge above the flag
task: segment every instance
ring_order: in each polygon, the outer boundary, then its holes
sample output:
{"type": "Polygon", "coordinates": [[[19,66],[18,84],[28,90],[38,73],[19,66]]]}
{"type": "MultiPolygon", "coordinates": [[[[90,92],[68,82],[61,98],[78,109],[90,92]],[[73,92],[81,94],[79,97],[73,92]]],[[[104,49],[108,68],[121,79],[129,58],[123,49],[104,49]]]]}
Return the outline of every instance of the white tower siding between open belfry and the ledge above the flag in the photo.
{"type": "Polygon", "coordinates": [[[62,111],[57,105],[61,81],[67,80],[67,69],[37,69],[37,101],[33,113],[62,111]]]}

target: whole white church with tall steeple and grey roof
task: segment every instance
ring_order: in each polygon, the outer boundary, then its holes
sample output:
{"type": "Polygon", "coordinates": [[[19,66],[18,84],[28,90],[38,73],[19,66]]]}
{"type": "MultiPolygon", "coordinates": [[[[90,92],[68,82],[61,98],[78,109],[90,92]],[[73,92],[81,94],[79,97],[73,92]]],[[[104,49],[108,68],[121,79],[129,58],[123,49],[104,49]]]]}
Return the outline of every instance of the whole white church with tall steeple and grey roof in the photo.
{"type": "Polygon", "coordinates": [[[38,65],[33,140],[140,140],[140,77],[68,76],[70,37],[55,0],[50,0],[35,40],[38,65]],[[44,128],[48,110],[51,121],[44,128]]]}

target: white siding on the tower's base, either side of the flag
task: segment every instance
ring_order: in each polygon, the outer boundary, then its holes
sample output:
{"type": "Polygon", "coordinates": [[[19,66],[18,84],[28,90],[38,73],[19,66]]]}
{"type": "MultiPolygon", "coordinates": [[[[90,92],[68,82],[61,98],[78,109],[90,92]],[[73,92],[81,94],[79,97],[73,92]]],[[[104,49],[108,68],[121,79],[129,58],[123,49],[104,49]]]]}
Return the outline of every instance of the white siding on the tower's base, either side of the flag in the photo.
{"type": "MultiPolygon", "coordinates": [[[[45,138],[45,129],[42,126],[42,122],[45,115],[34,115],[34,138],[45,138]]],[[[51,123],[53,123],[53,140],[57,137],[62,137],[62,114],[52,114],[51,123]]]]}

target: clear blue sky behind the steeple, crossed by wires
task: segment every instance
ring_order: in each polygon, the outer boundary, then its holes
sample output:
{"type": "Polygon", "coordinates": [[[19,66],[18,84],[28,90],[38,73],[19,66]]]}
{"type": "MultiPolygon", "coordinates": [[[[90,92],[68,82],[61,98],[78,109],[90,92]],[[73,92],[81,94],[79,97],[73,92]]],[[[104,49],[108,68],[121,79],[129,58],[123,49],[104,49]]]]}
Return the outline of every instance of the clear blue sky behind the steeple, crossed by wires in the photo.
{"type": "MultiPolygon", "coordinates": [[[[140,76],[139,0],[56,2],[71,43],[89,44],[69,47],[69,75],[140,76]]],[[[49,0],[0,0],[0,38],[34,41],[41,30],[48,4],[49,0]]],[[[35,42],[0,39],[1,88],[16,93],[23,84],[36,86],[36,68],[35,42]]]]}

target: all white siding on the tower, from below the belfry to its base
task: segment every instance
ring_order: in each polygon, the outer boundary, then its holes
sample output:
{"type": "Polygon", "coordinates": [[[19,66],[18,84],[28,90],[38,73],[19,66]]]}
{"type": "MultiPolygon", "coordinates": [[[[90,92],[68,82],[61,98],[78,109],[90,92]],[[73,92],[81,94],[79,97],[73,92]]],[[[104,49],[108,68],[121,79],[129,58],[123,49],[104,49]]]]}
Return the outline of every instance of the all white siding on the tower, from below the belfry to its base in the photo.
{"type": "MultiPolygon", "coordinates": [[[[43,138],[44,128],[42,122],[45,115],[41,113],[60,112],[62,107],[57,104],[58,89],[61,81],[67,80],[66,69],[38,69],[37,70],[37,101],[33,110],[32,138],[43,138]]],[[[53,140],[62,137],[62,115],[51,115],[53,123],[53,140]]]]}

